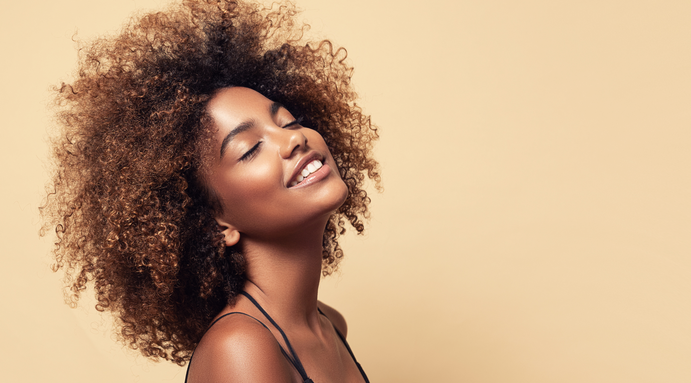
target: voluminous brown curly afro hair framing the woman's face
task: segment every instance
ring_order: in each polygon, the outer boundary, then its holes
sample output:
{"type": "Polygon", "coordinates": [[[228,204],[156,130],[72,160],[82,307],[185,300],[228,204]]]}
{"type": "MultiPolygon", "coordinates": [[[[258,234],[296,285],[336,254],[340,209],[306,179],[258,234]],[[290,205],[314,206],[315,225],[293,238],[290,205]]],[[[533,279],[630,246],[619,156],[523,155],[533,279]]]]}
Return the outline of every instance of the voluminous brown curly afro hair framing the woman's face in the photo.
{"type": "Polygon", "coordinates": [[[354,103],[345,50],[301,42],[296,13],[287,2],[185,0],[82,43],[75,80],[55,87],[60,133],[41,208],[42,234],[57,234],[54,270],[65,270],[71,306],[93,283],[97,310],[146,357],[184,365],[245,282],[200,180],[215,132],[205,106],[218,89],[281,102],[328,144],[349,194],[325,229],[324,275],[343,256],[345,221],[364,230],[365,174],[380,180],[377,129],[354,103]]]}

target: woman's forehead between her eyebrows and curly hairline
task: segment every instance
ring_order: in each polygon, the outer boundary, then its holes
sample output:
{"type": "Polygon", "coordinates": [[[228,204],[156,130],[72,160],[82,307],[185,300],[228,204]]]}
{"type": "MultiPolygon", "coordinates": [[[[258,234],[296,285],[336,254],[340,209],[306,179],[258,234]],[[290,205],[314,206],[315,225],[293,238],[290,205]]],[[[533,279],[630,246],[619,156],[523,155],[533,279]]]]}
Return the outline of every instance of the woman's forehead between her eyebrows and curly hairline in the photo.
{"type": "Polygon", "coordinates": [[[242,86],[224,88],[209,101],[208,111],[218,128],[235,126],[250,118],[269,115],[271,100],[257,91],[242,86]]]}

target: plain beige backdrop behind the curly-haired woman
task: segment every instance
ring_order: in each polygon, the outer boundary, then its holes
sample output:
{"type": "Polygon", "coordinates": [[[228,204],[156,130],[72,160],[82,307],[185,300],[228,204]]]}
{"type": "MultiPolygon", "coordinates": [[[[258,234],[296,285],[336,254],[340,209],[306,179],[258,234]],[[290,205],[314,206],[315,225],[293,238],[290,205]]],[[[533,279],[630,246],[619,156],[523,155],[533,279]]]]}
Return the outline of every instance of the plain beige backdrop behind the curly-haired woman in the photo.
{"type": "MultiPolygon", "coordinates": [[[[65,306],[36,234],[70,36],[159,4],[3,3],[5,382],[184,379],[65,306]]],[[[321,288],[372,383],[691,382],[691,2],[299,6],[381,127],[386,191],[321,288]]]]}

